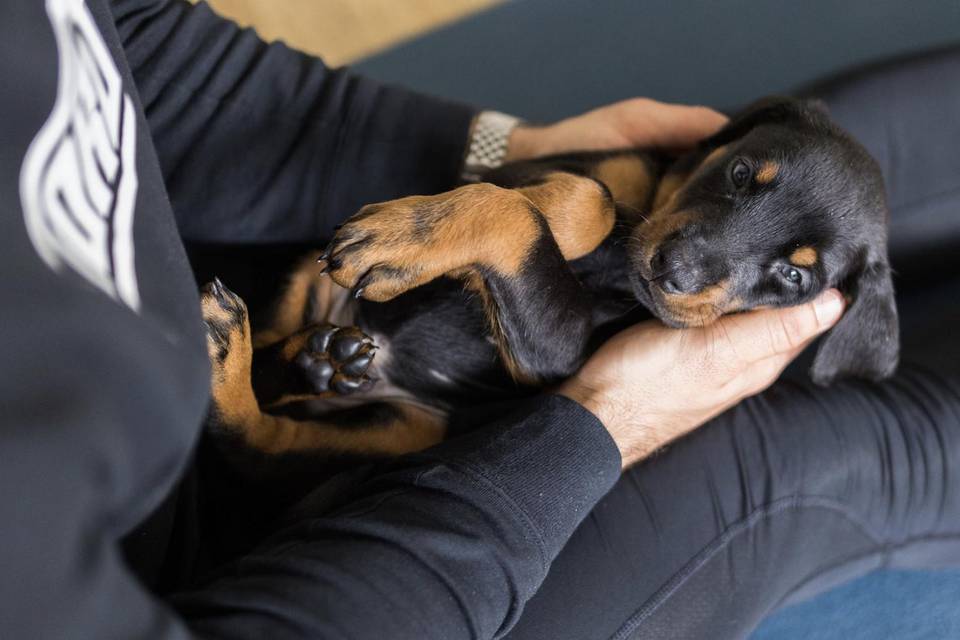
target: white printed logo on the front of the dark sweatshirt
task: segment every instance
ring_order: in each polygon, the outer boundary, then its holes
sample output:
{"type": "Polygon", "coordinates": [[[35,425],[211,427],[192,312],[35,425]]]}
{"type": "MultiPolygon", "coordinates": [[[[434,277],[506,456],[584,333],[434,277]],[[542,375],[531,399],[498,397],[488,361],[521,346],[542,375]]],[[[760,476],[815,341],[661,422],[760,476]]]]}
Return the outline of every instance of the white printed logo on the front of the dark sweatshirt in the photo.
{"type": "Polygon", "coordinates": [[[20,170],[30,240],[132,309],[136,119],[117,67],[83,0],[47,0],[57,38],[57,101],[20,170]]]}

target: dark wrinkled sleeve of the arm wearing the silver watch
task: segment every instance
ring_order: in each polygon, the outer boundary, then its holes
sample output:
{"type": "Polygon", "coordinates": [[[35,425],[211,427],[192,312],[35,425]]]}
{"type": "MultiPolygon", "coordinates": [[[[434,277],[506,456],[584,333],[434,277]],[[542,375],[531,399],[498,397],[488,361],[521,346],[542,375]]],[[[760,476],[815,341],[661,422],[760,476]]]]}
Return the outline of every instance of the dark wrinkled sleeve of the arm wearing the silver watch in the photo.
{"type": "Polygon", "coordinates": [[[473,110],[383,86],[184,0],[117,0],[182,235],[307,242],[457,180],[473,110]]]}

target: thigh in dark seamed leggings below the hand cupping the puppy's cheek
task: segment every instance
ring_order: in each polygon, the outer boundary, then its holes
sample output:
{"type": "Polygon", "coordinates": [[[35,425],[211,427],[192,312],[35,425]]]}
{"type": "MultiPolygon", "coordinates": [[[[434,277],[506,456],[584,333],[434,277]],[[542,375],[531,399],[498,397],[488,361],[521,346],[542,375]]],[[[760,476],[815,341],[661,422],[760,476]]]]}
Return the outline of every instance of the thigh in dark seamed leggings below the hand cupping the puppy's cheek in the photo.
{"type": "Polygon", "coordinates": [[[960,376],[776,385],[624,474],[510,637],[742,637],[838,577],[955,562],[958,465],[960,376]]]}

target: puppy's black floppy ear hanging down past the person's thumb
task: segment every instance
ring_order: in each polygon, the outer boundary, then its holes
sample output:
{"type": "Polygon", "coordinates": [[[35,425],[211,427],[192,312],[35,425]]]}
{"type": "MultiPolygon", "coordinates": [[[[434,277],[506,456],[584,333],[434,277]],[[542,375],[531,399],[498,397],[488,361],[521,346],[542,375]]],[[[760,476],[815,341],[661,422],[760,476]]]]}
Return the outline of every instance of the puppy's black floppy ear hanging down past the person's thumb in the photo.
{"type": "Polygon", "coordinates": [[[810,377],[819,385],[846,376],[889,377],[900,356],[900,324],[889,265],[885,260],[863,260],[840,290],[852,302],[820,341],[810,377]]]}

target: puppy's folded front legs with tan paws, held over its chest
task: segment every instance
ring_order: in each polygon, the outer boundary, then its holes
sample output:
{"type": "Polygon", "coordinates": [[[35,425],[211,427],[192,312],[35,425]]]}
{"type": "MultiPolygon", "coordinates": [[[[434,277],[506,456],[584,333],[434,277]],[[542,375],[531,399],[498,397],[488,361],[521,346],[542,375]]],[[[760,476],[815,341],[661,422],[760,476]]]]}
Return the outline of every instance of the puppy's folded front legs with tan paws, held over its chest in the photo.
{"type": "Polygon", "coordinates": [[[551,172],[520,189],[490,184],[364,207],[327,250],[331,278],[386,301],[441,275],[481,296],[513,377],[572,373],[592,331],[591,302],[567,265],[600,244],[615,208],[597,181],[551,172]]]}

